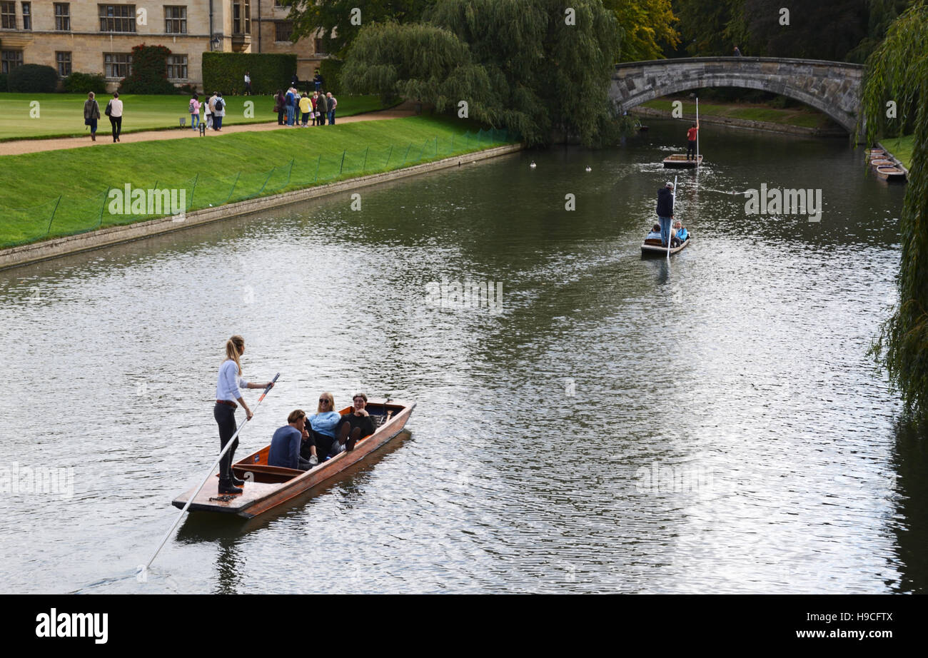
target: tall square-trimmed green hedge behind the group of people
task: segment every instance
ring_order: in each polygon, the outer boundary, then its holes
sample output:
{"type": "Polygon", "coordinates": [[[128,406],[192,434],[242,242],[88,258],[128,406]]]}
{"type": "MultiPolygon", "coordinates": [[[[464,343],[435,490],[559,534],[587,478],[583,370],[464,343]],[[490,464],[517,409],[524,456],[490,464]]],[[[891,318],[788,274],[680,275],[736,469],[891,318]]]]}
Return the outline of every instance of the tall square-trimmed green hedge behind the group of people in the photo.
{"type": "Polygon", "coordinates": [[[271,53],[203,53],[203,91],[226,96],[245,91],[245,71],[251,74],[251,92],[275,94],[290,86],[296,55],[271,53]]]}

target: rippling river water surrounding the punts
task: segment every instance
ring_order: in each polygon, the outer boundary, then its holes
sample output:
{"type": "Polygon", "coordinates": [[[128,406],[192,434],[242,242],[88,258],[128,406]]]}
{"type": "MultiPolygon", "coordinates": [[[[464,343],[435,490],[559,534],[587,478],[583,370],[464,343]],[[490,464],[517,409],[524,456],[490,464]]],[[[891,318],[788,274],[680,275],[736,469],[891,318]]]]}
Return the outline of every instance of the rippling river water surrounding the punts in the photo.
{"type": "Polygon", "coordinates": [[[3,496],[3,590],[925,591],[928,456],[867,355],[904,187],[841,139],[707,124],[693,243],[642,260],[684,138],[650,123],[0,272],[5,461],[74,477],[3,496]],[[820,188],[821,221],[749,218],[762,183],[820,188]],[[418,406],[315,497],[188,517],[138,583],[219,448],[232,333],[281,373],[238,456],[322,391],[418,406]]]}

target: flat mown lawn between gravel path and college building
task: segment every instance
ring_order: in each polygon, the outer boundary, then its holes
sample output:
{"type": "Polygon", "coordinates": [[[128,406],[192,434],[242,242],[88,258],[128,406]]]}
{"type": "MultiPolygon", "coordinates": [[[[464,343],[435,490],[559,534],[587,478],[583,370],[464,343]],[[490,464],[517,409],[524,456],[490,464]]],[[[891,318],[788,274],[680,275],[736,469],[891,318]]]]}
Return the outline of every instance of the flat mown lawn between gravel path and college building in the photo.
{"type": "MultiPolygon", "coordinates": [[[[99,130],[110,129],[103,114],[111,96],[97,96],[100,106],[99,130]]],[[[202,97],[200,97],[202,99],[202,97]]],[[[88,135],[84,125],[84,94],[0,94],[0,141],[30,137],[71,137],[88,135]],[[38,107],[32,106],[38,101],[38,107]],[[38,116],[33,116],[35,114],[38,116]]],[[[123,105],[122,132],[177,128],[181,117],[190,124],[187,96],[120,96],[123,105]]],[[[230,96],[226,100],[224,123],[264,123],[275,121],[274,98],[269,96],[230,96]],[[252,116],[246,116],[245,103],[253,102],[252,116]]],[[[338,116],[381,110],[376,96],[340,96],[338,116]]],[[[336,118],[336,121],[338,119],[336,118]]]]}

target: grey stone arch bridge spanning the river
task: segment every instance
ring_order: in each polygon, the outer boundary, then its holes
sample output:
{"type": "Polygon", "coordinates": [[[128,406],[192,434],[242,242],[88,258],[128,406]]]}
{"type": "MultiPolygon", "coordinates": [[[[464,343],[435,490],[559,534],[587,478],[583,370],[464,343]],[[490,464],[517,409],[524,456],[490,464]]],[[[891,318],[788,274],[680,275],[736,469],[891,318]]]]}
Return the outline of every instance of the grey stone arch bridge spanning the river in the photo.
{"type": "Polygon", "coordinates": [[[617,64],[610,97],[621,110],[653,98],[704,87],[744,87],[795,98],[827,114],[849,133],[857,126],[864,67],[785,58],[680,58],[617,64]]]}

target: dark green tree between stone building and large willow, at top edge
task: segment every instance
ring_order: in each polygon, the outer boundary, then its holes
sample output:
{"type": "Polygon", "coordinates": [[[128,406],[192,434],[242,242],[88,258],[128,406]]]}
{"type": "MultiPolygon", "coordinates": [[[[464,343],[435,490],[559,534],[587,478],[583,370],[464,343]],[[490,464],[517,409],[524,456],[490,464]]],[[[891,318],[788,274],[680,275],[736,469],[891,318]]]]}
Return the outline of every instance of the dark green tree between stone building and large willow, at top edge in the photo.
{"type": "Polygon", "coordinates": [[[411,23],[422,18],[435,0],[282,0],[290,6],[293,41],[303,37],[322,39],[323,52],[341,58],[361,32],[373,22],[411,23]],[[356,19],[352,19],[354,9],[356,19]],[[358,23],[360,21],[360,24],[358,23]]]}

